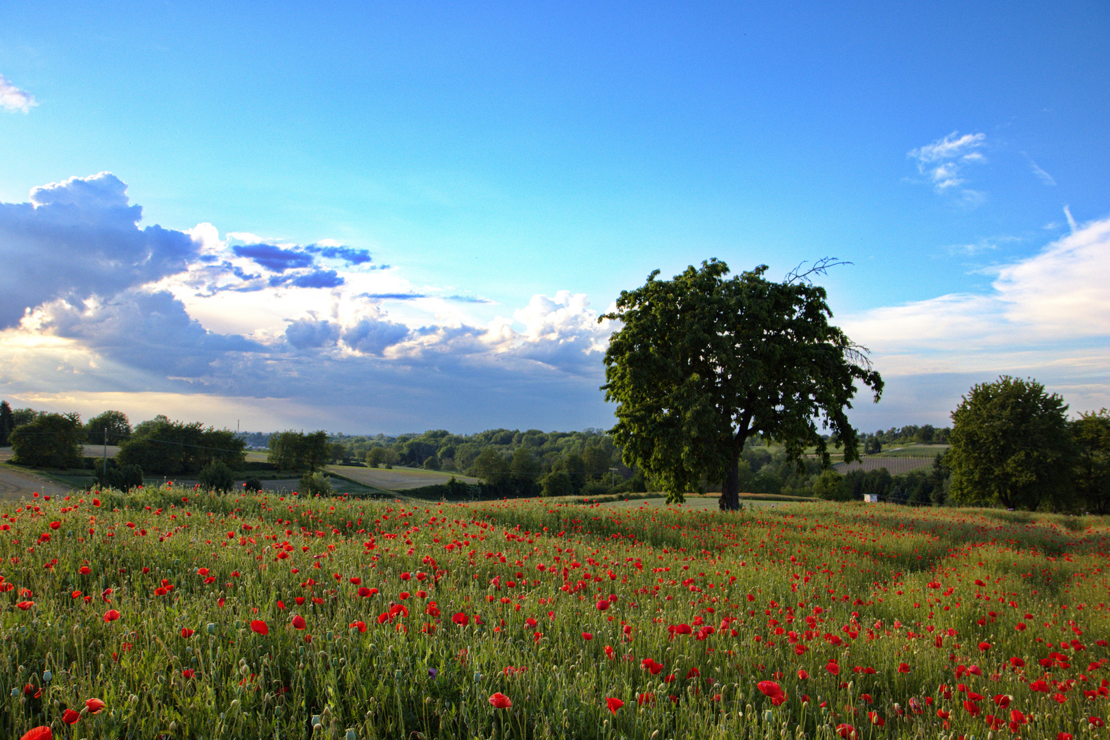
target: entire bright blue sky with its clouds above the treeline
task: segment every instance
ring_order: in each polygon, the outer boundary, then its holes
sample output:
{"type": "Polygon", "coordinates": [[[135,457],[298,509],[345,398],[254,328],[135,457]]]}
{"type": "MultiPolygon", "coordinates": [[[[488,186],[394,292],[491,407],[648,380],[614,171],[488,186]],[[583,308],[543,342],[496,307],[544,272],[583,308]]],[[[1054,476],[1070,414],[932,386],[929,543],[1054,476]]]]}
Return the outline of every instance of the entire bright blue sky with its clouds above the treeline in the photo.
{"type": "Polygon", "coordinates": [[[0,394],[608,427],[622,290],[835,255],[864,429],[1110,406],[1104,3],[366,4],[0,8],[0,394]]]}

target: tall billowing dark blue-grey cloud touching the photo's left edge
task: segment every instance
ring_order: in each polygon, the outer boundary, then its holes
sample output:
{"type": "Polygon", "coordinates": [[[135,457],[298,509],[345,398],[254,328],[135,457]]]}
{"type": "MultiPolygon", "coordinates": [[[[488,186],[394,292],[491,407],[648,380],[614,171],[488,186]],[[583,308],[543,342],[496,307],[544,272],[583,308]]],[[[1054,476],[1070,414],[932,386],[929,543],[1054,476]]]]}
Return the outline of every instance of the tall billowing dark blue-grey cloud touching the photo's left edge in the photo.
{"type": "Polygon", "coordinates": [[[0,203],[0,328],[54,298],[112,296],[196,259],[188,234],[139,229],[141,219],[127,184],[109,172],[36,187],[30,203],[0,203]]]}

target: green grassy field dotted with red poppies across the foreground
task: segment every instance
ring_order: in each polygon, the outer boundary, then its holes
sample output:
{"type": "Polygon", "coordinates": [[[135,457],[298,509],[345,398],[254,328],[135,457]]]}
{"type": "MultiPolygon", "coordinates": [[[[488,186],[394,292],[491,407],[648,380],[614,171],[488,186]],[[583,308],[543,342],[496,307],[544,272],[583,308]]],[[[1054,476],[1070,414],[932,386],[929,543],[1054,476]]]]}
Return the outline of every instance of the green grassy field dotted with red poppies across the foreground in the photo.
{"type": "Polygon", "coordinates": [[[0,737],[1088,738],[1098,518],[211,496],[0,514],[0,737]]]}

